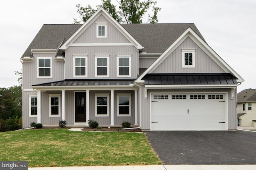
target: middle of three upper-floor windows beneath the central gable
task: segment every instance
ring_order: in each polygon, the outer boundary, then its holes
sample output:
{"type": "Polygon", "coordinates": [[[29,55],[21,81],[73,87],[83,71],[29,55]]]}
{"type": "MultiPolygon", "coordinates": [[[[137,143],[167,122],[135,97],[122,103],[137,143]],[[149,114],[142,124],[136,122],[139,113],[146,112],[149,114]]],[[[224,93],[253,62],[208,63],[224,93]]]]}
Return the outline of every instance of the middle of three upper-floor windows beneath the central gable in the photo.
{"type": "Polygon", "coordinates": [[[109,77],[109,56],[96,56],[95,63],[95,77],[109,77]]]}

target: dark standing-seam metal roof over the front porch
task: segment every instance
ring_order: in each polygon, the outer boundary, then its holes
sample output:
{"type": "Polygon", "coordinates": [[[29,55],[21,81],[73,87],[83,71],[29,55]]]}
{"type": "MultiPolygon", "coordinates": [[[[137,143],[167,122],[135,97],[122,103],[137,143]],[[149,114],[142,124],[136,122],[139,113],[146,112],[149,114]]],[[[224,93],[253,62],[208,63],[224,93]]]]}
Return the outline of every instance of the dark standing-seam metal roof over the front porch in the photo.
{"type": "Polygon", "coordinates": [[[101,79],[101,80],[74,80],[74,79],[67,79],[67,80],[61,80],[56,82],[48,82],[48,83],[42,83],[42,84],[35,84],[32,86],[129,86],[130,84],[134,83],[134,80],[136,79],[117,79],[117,80],[107,80],[107,79],[101,79]]]}

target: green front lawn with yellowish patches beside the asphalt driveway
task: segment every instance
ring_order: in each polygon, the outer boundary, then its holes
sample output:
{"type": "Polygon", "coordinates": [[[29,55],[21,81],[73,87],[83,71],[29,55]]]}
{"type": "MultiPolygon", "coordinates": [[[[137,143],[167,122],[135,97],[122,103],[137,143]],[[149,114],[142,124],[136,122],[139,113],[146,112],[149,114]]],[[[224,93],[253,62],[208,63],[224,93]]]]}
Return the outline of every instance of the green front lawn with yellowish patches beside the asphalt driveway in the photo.
{"type": "Polygon", "coordinates": [[[3,132],[0,153],[0,160],[27,160],[29,167],[162,164],[143,133],[3,132]]]}

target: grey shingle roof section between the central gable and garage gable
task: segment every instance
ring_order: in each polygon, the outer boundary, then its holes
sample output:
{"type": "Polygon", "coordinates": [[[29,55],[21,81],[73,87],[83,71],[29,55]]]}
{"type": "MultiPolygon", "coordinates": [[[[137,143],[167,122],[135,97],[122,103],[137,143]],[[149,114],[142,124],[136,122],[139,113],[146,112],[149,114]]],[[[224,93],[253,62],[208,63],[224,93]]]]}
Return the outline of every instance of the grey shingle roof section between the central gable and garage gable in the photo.
{"type": "Polygon", "coordinates": [[[142,23],[121,24],[143,47],[146,53],[164,53],[188,27],[201,38],[194,23],[142,23]]]}

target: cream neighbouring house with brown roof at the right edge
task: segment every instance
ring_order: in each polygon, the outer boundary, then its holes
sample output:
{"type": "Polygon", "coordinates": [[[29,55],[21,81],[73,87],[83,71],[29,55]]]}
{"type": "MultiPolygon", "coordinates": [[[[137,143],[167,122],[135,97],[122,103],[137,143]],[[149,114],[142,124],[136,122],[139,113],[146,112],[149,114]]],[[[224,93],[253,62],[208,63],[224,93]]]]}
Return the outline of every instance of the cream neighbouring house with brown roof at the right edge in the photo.
{"type": "Polygon", "coordinates": [[[246,89],[237,94],[238,126],[256,128],[256,89],[246,89]]]}

